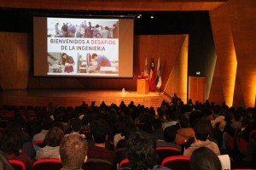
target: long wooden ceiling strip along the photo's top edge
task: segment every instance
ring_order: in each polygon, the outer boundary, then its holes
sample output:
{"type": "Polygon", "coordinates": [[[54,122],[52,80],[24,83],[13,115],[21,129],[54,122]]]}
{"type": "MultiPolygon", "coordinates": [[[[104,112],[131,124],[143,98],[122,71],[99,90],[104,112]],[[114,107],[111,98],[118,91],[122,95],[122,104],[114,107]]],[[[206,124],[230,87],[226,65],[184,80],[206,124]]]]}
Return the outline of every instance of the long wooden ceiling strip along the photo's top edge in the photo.
{"type": "Polygon", "coordinates": [[[76,10],[193,11],[214,10],[229,0],[3,0],[0,7],[76,10]]]}

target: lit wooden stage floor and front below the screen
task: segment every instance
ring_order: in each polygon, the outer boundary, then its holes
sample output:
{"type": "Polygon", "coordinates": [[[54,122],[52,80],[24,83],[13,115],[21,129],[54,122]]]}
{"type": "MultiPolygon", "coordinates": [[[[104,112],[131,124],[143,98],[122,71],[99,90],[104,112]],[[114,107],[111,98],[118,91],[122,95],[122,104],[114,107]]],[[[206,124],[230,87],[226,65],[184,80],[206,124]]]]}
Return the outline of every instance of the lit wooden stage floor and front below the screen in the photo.
{"type": "MultiPolygon", "coordinates": [[[[90,105],[95,101],[96,105],[101,105],[102,101],[106,105],[119,105],[124,101],[129,105],[131,100],[135,105],[153,106],[155,109],[160,106],[164,94],[159,92],[149,92],[148,94],[137,94],[137,91],[120,90],[84,90],[84,89],[29,89],[29,90],[3,90],[0,92],[1,105],[32,105],[47,106],[52,102],[55,106],[77,106],[83,101],[90,105]]],[[[166,99],[168,100],[168,99],[166,99]]]]}

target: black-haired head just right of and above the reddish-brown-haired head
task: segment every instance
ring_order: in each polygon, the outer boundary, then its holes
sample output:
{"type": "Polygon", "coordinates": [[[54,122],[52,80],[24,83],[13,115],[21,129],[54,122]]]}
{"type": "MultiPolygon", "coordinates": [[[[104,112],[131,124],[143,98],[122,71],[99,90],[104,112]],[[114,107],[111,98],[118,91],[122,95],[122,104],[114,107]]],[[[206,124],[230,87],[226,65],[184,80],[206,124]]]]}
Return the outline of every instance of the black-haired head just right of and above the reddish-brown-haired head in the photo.
{"type": "Polygon", "coordinates": [[[108,128],[106,126],[93,126],[90,131],[96,144],[104,144],[106,142],[108,138],[108,128]]]}

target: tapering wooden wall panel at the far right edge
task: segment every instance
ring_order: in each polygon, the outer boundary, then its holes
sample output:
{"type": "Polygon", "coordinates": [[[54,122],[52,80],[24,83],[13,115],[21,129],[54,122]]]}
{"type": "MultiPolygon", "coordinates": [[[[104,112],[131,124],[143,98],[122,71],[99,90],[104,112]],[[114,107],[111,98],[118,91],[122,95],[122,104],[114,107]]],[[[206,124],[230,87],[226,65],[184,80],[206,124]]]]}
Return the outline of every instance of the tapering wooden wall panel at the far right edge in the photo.
{"type": "Polygon", "coordinates": [[[231,0],[228,7],[236,48],[237,78],[240,79],[245,106],[254,107],[256,95],[256,1],[231,0]]]}

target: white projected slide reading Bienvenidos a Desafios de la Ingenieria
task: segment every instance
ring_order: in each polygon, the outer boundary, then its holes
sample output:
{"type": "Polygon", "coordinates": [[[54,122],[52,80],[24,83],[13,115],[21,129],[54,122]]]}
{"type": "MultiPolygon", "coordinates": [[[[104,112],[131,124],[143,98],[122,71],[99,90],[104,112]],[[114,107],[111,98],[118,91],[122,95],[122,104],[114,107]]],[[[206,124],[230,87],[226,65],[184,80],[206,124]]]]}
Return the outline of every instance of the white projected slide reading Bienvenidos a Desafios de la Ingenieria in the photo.
{"type": "Polygon", "coordinates": [[[119,75],[119,20],[47,19],[48,75],[119,75]]]}

